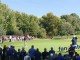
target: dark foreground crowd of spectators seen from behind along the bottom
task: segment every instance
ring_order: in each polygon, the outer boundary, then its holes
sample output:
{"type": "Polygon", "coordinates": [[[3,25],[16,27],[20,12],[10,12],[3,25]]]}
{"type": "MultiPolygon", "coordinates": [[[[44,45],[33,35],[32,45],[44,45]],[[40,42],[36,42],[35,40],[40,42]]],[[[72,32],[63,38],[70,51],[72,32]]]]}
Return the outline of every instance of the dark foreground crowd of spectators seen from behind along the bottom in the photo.
{"type": "Polygon", "coordinates": [[[15,50],[15,46],[0,47],[0,60],[80,60],[80,56],[75,49],[70,46],[67,53],[62,55],[56,54],[53,47],[49,51],[44,48],[43,52],[39,51],[39,48],[35,49],[34,45],[31,46],[28,52],[24,48],[15,50]]]}

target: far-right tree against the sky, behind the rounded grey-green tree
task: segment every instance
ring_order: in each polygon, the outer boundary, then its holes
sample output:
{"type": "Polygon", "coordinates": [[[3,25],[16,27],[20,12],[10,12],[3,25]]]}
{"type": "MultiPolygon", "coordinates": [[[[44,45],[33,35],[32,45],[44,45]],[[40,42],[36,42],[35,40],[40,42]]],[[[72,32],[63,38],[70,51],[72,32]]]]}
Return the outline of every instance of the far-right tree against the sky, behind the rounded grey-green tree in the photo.
{"type": "Polygon", "coordinates": [[[75,29],[75,31],[79,31],[80,30],[80,18],[77,14],[72,13],[70,15],[62,15],[61,19],[65,19],[66,22],[69,22],[70,24],[72,24],[72,27],[75,29]]]}

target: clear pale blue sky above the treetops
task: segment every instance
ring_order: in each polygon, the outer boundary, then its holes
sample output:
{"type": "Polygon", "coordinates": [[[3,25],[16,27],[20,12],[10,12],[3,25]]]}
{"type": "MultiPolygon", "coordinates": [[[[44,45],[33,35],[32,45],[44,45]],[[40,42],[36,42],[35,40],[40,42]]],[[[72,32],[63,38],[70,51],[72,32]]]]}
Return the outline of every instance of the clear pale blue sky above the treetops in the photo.
{"type": "Polygon", "coordinates": [[[80,0],[1,0],[9,8],[37,17],[52,12],[56,16],[76,13],[80,16],[80,0]]]}

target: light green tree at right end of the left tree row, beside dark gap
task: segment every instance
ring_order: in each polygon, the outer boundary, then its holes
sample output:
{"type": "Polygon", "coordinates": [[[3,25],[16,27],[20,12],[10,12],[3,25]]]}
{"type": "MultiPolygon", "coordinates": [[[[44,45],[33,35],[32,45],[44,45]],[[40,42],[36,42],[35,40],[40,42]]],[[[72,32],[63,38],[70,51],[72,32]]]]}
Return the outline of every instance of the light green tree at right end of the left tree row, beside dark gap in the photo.
{"type": "Polygon", "coordinates": [[[37,37],[37,34],[39,32],[40,26],[39,26],[39,19],[36,16],[30,15],[30,27],[29,32],[30,35],[37,37]]]}

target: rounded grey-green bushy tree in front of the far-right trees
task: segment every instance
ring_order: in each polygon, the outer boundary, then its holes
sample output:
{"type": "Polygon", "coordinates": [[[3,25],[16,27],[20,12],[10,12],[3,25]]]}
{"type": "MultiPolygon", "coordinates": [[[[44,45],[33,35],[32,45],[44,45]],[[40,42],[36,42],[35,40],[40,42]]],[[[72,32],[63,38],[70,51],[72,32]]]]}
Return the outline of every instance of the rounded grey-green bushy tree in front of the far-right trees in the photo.
{"type": "Polygon", "coordinates": [[[74,34],[75,30],[69,22],[62,23],[60,35],[71,35],[74,34]]]}

